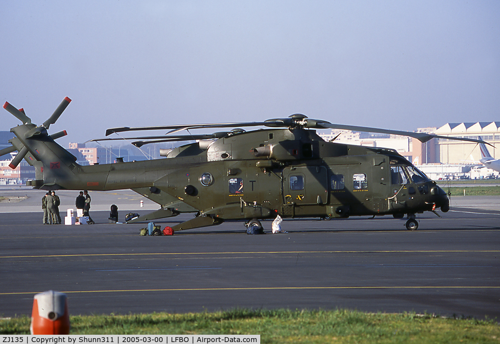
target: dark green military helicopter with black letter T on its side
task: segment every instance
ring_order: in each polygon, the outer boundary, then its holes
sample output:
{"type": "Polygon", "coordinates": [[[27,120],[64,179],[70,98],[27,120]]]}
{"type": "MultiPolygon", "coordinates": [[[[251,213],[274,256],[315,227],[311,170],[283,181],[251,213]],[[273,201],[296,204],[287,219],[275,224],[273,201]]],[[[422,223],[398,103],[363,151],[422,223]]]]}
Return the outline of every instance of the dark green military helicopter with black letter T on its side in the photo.
{"type": "MultiPolygon", "coordinates": [[[[449,210],[446,192],[393,149],[327,142],[314,129],[337,128],[406,135],[422,142],[431,138],[482,140],[428,133],[332,124],[303,114],[265,121],[116,127],[113,132],[170,130],[161,136],[139,136],[133,144],[198,140],[171,150],[159,159],[146,161],[77,164],[47,129],[71,99],[64,98],[42,125],[31,123],[22,109],[5,102],[3,107],[22,124],[10,129],[16,137],[0,155],[18,151],[10,167],[24,158],[35,167],[37,189],[116,190],[130,188],[155,201],[158,210],[130,222],[194,212],[194,217],[173,230],[217,225],[225,220],[244,220],[247,233],[262,232],[261,219],[320,217],[347,218],[360,215],[408,217],[405,225],[417,229],[416,213],[449,210]],[[241,127],[265,126],[245,131],[241,127]],[[211,134],[176,134],[181,130],[234,128],[211,134]]],[[[93,139],[92,141],[110,138],[93,139]]],[[[122,139],[122,138],[121,138],[122,139]]]]}

